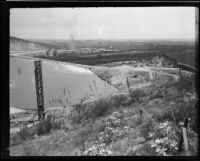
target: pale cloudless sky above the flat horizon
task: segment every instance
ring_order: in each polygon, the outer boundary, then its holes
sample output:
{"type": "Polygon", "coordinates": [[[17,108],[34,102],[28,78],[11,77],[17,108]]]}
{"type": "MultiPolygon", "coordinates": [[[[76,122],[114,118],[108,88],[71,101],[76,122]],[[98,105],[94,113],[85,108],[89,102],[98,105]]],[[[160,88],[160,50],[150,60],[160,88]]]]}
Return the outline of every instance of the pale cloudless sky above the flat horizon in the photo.
{"type": "Polygon", "coordinates": [[[195,39],[194,7],[13,8],[24,39],[195,39]]]}

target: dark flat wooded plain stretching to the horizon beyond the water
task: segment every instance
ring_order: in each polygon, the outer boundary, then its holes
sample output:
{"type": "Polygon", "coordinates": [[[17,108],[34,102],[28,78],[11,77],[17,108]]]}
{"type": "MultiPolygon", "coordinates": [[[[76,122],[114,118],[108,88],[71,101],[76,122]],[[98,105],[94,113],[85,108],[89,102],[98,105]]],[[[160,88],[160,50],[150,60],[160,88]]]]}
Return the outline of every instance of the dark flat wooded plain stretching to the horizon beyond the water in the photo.
{"type": "MultiPolygon", "coordinates": [[[[98,64],[105,64],[118,61],[149,60],[156,55],[166,55],[172,59],[177,60],[180,63],[189,64],[193,67],[196,66],[195,62],[196,47],[194,42],[178,42],[178,41],[142,42],[141,41],[140,43],[138,43],[134,41],[130,42],[75,41],[74,43],[76,44],[76,49],[81,49],[85,47],[91,49],[92,48],[110,49],[110,46],[112,46],[112,49],[115,49],[117,51],[100,52],[98,54],[95,53],[76,54],[74,52],[72,53],[61,52],[54,57],[48,57],[48,59],[85,64],[85,65],[98,65],[98,64]]],[[[46,58],[45,56],[39,56],[39,57],[46,58]]]]}

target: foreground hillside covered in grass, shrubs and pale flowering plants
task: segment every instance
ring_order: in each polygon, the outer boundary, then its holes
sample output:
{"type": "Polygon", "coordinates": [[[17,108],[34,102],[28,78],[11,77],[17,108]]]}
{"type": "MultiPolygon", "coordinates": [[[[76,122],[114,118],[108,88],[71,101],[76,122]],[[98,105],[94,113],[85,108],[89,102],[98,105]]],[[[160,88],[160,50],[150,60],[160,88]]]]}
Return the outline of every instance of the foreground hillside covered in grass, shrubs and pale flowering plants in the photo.
{"type": "Polygon", "coordinates": [[[190,118],[189,155],[197,155],[194,77],[84,100],[49,114],[11,138],[12,156],[179,156],[179,124],[190,118]]]}

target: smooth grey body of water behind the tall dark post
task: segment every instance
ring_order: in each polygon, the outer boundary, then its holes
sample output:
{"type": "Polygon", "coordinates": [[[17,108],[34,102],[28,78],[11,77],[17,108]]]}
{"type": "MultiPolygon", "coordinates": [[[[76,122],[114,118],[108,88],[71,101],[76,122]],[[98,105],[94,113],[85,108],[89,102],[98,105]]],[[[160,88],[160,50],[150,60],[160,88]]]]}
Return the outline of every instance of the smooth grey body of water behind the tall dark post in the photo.
{"type": "MultiPolygon", "coordinates": [[[[91,71],[75,65],[42,60],[42,74],[46,108],[70,106],[86,95],[118,92],[91,71]]],[[[33,59],[10,57],[10,106],[37,109],[33,59]]]]}

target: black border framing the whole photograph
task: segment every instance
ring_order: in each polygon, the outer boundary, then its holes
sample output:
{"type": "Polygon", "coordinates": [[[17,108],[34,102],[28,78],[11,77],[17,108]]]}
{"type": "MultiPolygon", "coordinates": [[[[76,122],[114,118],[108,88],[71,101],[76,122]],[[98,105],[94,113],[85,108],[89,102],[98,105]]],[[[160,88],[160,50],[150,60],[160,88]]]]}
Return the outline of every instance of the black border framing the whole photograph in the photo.
{"type": "MultiPolygon", "coordinates": [[[[196,1],[184,2],[161,2],[161,1],[142,1],[142,2],[132,2],[132,1],[43,1],[43,2],[1,2],[1,54],[3,58],[1,59],[1,157],[9,159],[68,159],[68,157],[14,157],[9,156],[9,10],[12,8],[54,8],[54,7],[196,7],[198,9],[197,22],[196,22],[196,69],[198,69],[199,74],[199,3],[196,1]]],[[[199,76],[197,74],[196,78],[196,90],[199,93],[199,76]]],[[[198,114],[199,115],[199,102],[198,114]]],[[[200,125],[200,119],[197,122],[197,126],[200,125]]],[[[200,128],[198,128],[200,129],[200,128]]],[[[199,135],[199,134],[198,134],[199,135]]],[[[198,147],[199,152],[199,147],[198,147]]],[[[69,157],[70,159],[83,159],[83,157],[69,157]]],[[[84,157],[85,158],[85,157],[84,157]]],[[[92,159],[94,157],[90,157],[92,159]]],[[[95,157],[97,158],[97,157],[95,157]]],[[[111,159],[133,159],[133,157],[109,157],[111,159]]],[[[153,157],[153,156],[135,156],[134,159],[183,159],[183,160],[199,160],[198,156],[173,156],[173,157],[153,157]]],[[[101,159],[101,158],[100,158],[101,159]]]]}

